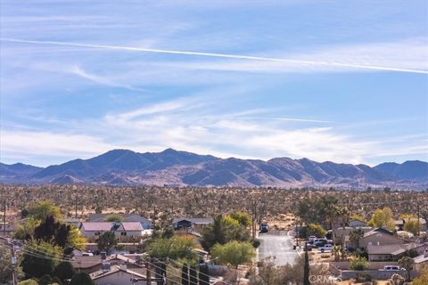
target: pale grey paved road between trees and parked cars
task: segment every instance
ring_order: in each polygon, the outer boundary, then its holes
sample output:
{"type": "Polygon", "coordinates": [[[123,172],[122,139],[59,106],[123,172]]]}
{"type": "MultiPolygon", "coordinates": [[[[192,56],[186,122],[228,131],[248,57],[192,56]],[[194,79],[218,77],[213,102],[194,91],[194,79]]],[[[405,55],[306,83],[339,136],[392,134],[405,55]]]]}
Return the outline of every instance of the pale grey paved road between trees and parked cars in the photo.
{"type": "Polygon", "coordinates": [[[294,264],[299,255],[292,249],[292,241],[286,232],[259,233],[259,260],[276,256],[276,265],[294,264]]]}

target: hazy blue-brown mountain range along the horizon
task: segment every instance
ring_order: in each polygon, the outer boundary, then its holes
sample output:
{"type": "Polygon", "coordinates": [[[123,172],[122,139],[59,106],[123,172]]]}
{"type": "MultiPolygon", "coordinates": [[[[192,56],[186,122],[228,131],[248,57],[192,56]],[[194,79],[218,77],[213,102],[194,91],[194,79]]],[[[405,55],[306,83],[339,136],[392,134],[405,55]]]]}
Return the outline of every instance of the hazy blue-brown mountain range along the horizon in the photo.
{"type": "Polygon", "coordinates": [[[428,163],[412,160],[369,167],[310,159],[220,159],[173,149],[113,150],[45,168],[0,163],[0,183],[425,190],[428,163]]]}

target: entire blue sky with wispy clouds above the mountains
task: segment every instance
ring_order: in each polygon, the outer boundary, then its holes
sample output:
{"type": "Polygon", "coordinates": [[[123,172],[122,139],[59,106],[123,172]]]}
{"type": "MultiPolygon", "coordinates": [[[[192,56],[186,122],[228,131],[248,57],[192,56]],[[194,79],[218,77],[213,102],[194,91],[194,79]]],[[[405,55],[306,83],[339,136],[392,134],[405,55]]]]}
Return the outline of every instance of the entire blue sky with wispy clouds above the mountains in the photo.
{"type": "Polygon", "coordinates": [[[428,160],[426,1],[0,8],[4,163],[169,147],[372,166],[428,160]]]}

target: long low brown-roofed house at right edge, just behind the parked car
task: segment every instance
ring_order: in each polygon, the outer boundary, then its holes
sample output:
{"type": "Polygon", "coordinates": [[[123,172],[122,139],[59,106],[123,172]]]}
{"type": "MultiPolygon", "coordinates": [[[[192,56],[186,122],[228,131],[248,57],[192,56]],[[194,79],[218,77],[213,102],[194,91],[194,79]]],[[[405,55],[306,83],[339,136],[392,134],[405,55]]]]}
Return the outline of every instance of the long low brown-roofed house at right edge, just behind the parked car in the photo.
{"type": "Polygon", "coordinates": [[[424,244],[389,244],[389,245],[370,245],[367,247],[368,261],[398,261],[402,256],[410,252],[420,254],[424,252],[424,244]]]}

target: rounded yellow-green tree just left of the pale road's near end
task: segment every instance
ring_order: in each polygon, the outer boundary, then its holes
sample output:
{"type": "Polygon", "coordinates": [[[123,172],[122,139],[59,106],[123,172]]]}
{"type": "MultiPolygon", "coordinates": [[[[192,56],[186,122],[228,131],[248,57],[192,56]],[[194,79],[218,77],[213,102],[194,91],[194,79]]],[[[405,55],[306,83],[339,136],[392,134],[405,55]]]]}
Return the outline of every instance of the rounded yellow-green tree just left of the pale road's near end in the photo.
{"type": "Polygon", "coordinates": [[[255,249],[250,242],[240,242],[232,240],[224,245],[216,244],[211,248],[211,256],[217,258],[223,265],[230,265],[238,269],[238,265],[251,262],[251,258],[256,255],[255,249]]]}

